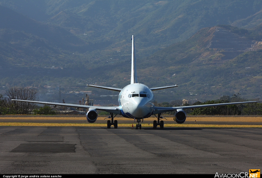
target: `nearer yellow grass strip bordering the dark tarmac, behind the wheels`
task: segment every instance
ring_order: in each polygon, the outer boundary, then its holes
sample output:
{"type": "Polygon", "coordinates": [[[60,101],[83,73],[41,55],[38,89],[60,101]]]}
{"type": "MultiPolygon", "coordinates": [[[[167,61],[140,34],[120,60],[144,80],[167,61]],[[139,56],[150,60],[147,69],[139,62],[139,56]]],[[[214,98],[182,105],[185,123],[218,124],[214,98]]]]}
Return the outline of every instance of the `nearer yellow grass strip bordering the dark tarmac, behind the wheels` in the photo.
{"type": "MultiPolygon", "coordinates": [[[[107,124],[98,123],[21,123],[21,122],[0,122],[0,126],[45,126],[45,127],[107,127],[107,124]]],[[[135,126],[135,124],[134,124],[135,126]]],[[[132,124],[118,124],[118,127],[132,127],[132,124]]],[[[153,124],[142,124],[142,127],[153,127],[153,124]]],[[[240,128],[240,127],[262,127],[262,125],[219,125],[219,124],[165,124],[165,127],[219,127],[219,128],[240,128]]]]}

